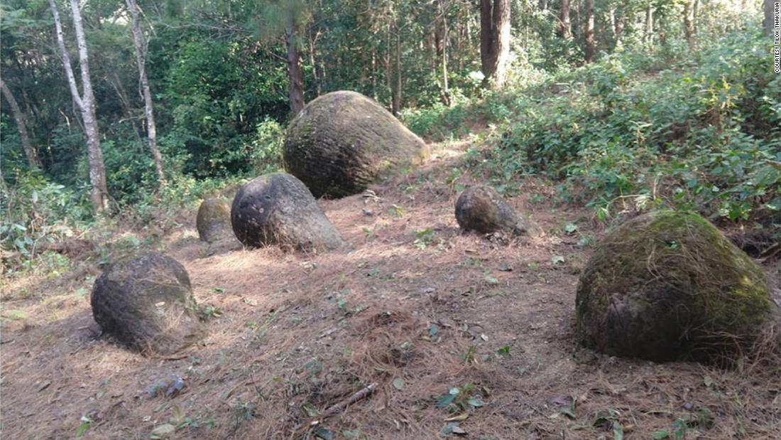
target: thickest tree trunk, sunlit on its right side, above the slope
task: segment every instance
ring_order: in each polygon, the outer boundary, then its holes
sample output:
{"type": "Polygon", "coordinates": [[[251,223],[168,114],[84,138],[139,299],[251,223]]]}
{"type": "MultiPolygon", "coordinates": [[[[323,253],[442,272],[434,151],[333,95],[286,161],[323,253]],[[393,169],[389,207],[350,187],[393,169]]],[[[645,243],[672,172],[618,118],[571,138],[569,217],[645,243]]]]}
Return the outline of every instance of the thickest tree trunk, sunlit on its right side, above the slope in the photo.
{"type": "Polygon", "coordinates": [[[483,86],[501,88],[510,55],[510,1],[480,1],[480,63],[483,86]]]}

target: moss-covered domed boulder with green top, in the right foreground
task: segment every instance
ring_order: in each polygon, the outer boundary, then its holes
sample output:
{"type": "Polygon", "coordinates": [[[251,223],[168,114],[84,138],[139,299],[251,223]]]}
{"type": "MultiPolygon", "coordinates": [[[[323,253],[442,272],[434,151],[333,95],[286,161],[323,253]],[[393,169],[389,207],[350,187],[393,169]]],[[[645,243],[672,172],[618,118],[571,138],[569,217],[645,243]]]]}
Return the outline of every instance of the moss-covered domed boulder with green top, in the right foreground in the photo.
{"type": "Polygon", "coordinates": [[[658,211],[608,234],[583,270],[580,342],[650,360],[712,360],[769,319],[765,274],[695,213],[658,211]]]}

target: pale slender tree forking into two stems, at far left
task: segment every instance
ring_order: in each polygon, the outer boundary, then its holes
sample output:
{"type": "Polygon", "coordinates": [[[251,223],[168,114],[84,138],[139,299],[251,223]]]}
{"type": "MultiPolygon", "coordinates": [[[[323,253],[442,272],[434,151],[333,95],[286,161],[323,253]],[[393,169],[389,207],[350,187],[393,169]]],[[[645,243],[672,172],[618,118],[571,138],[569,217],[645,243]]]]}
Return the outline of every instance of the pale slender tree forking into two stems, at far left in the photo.
{"type": "Polygon", "coordinates": [[[79,48],[79,70],[81,73],[81,88],[79,93],[76,77],[73,75],[73,67],[70,65],[70,55],[65,47],[65,36],[62,32],[62,22],[59,20],[59,11],[54,0],[49,0],[49,7],[54,16],[57,45],[59,46],[62,66],[70,86],[70,95],[81,113],[81,121],[84,123],[84,136],[87,138],[87,159],[90,166],[90,184],[92,191],[90,199],[92,210],[100,213],[109,204],[109,189],[105,183],[105,166],[103,165],[103,152],[100,148],[100,134],[98,132],[98,120],[95,117],[95,95],[92,92],[90,79],[89,58],[87,56],[87,39],[84,37],[84,24],[81,20],[81,9],[78,0],[70,0],[70,9],[73,13],[73,29],[76,31],[76,41],[79,48]]]}

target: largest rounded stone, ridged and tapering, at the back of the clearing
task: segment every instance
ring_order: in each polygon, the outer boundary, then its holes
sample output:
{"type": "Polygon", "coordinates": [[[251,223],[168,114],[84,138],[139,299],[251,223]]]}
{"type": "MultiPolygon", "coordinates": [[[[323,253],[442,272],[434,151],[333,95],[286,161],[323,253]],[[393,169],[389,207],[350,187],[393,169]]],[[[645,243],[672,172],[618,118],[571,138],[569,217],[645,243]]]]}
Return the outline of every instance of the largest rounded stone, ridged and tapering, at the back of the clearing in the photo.
{"type": "Polygon", "coordinates": [[[284,164],[315,197],[357,194],[430,148],[382,106],[355,91],[316,98],[290,123],[284,164]]]}

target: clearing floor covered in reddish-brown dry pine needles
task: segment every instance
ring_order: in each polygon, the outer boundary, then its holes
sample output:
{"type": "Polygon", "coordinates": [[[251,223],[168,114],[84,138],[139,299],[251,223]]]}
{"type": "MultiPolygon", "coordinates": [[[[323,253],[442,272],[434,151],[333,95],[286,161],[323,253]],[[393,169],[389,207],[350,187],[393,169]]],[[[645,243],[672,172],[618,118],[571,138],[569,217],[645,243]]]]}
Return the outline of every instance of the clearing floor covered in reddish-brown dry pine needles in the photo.
{"type": "Polygon", "coordinates": [[[376,383],[319,426],[333,438],[438,438],[446,418],[466,413],[458,425],[469,438],[612,438],[614,420],[625,438],[650,438],[686,418],[698,420],[686,438],[777,437],[777,331],[762,339],[764,356],[736,370],[578,349],[575,287],[588,250],[560,231],[584,212],[531,204],[551,189],[527,181],[512,204],[533,213],[544,237],[461,234],[444,181],[462,148],[440,148],[426,169],[374,188],[380,199],[322,202],[350,251],[209,247],[193,215],[165,238],[167,253],[187,267],[198,302],[222,313],[179,359],[98,338],[88,295],[74,293],[88,274],[14,281],[34,295],[3,293],[2,309],[27,319],[2,327],[2,435],[72,438],[87,414],[84,438],[149,438],[172,418],[183,425],[175,438],[315,438],[306,427],[319,413],[376,383]],[[184,377],[182,392],[148,393],[171,374],[184,377]],[[472,388],[484,406],[437,408],[453,387],[472,388]]]}

